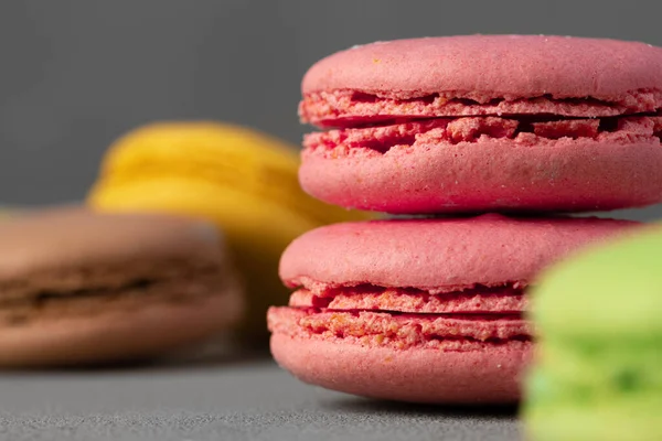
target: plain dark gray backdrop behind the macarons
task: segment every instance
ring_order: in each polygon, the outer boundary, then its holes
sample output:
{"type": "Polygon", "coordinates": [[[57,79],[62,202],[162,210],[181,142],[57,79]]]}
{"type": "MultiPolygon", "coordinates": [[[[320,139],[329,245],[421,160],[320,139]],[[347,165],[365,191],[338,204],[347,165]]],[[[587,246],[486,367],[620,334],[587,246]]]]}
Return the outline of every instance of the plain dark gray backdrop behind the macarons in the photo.
{"type": "Polygon", "coordinates": [[[661,12],[659,0],[1,1],[0,204],[81,198],[108,143],[151,120],[228,120],[299,143],[303,73],[353,44],[480,32],[662,45],[661,12]]]}

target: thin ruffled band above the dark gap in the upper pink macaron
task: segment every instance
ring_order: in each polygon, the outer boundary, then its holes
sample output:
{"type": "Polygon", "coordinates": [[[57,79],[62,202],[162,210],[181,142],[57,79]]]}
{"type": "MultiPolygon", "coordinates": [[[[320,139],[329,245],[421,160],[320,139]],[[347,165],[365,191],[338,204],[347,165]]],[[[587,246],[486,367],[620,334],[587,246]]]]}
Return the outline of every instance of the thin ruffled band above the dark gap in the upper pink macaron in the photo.
{"type": "Polygon", "coordinates": [[[317,90],[303,94],[302,122],[318,127],[356,127],[396,118],[500,115],[607,117],[655,112],[662,90],[641,88],[616,97],[535,97],[482,92],[421,93],[415,90],[317,90]]]}

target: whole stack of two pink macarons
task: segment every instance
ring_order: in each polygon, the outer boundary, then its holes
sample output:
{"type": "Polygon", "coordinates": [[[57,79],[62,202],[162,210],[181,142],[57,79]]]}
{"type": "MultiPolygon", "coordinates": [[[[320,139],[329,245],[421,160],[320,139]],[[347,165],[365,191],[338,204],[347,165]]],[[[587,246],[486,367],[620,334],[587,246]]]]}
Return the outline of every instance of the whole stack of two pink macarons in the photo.
{"type": "Polygon", "coordinates": [[[305,138],[307,192],[434,215],[331,225],[285,251],[280,277],[295,291],[269,310],[271,351],[311,384],[418,402],[517,400],[535,334],[527,288],[637,225],[557,213],[662,201],[662,50],[647,44],[373,43],[318,62],[302,94],[302,121],[321,129],[305,138]]]}

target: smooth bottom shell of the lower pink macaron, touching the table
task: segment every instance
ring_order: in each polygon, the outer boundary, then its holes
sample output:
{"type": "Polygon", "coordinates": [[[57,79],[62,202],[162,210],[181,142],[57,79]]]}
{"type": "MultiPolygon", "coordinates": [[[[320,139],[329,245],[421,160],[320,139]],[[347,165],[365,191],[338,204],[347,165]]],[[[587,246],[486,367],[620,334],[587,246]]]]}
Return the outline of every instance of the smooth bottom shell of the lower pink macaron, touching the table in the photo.
{"type": "Polygon", "coordinates": [[[371,398],[430,404],[516,402],[528,349],[397,351],[271,336],[280,366],[306,383],[371,398]]]}

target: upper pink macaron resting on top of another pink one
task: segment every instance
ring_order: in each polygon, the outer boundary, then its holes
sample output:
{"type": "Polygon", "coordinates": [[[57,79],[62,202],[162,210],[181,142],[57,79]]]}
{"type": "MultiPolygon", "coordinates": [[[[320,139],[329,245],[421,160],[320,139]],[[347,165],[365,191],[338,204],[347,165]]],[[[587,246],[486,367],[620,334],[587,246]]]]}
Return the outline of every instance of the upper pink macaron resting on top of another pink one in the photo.
{"type": "Polygon", "coordinates": [[[300,181],[388,213],[607,211],[662,201],[662,49],[470,35],[314,64],[300,181]]]}

